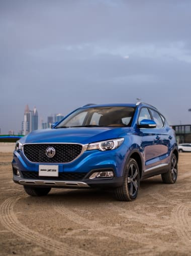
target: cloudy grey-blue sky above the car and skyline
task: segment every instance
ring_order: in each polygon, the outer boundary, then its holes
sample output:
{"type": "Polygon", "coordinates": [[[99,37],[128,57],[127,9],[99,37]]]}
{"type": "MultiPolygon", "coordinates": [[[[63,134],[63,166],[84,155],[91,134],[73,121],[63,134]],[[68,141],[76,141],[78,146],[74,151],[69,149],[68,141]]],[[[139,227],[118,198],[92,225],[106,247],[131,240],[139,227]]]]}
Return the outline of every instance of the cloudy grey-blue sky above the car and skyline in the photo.
{"type": "Polygon", "coordinates": [[[149,103],[191,124],[191,1],[0,0],[0,129],[87,103],[149,103]]]}

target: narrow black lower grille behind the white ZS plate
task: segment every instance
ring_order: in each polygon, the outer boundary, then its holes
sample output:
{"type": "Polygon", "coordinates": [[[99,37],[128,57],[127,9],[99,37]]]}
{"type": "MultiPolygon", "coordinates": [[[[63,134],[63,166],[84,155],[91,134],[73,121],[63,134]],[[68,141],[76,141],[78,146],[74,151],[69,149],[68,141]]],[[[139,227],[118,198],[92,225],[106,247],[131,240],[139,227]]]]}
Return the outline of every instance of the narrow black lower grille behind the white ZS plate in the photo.
{"type": "Polygon", "coordinates": [[[25,179],[43,179],[43,180],[82,180],[86,173],[74,173],[74,172],[64,172],[59,173],[58,177],[46,177],[39,176],[38,172],[24,172],[22,171],[22,176],[25,179]]]}

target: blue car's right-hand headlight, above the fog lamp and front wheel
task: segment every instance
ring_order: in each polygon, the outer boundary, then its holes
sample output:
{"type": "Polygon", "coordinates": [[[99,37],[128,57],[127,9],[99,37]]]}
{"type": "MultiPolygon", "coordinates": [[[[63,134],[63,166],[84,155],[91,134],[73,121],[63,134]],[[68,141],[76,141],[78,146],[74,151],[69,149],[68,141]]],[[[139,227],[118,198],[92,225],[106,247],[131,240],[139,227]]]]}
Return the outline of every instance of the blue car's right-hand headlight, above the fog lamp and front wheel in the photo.
{"type": "Polygon", "coordinates": [[[123,143],[124,138],[111,139],[105,141],[99,141],[95,143],[90,143],[87,150],[99,149],[101,151],[116,149],[123,143]]]}

